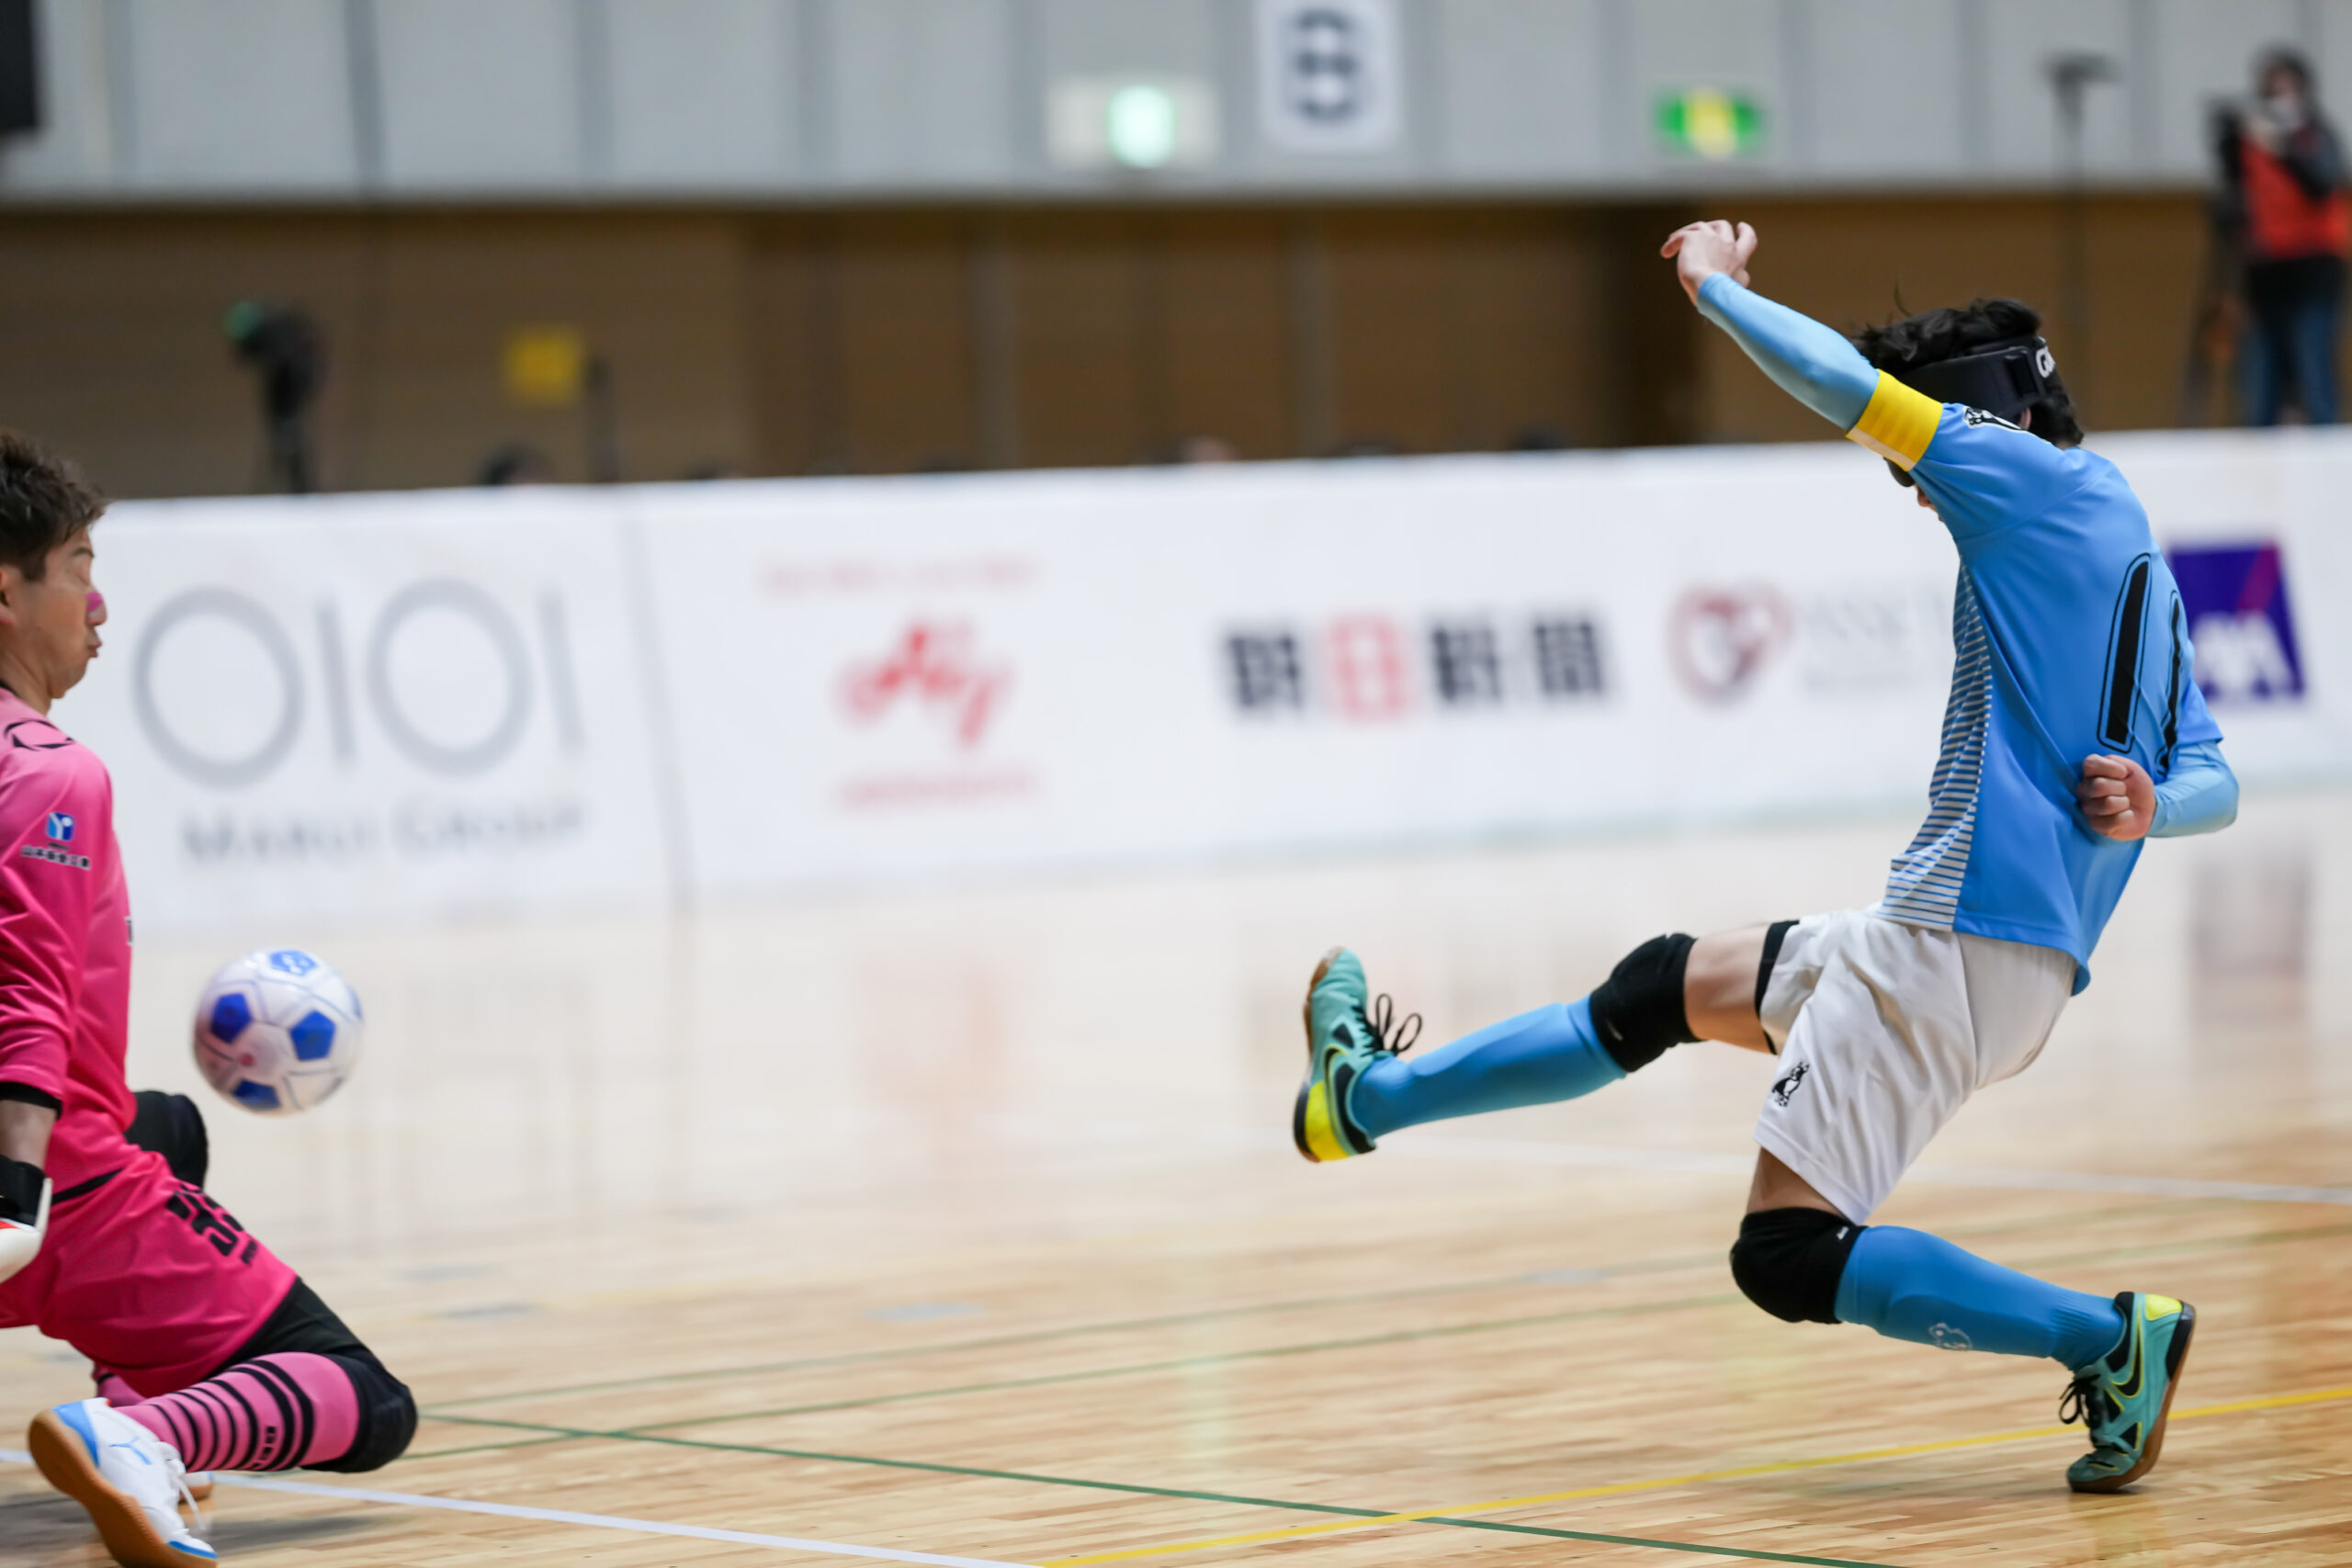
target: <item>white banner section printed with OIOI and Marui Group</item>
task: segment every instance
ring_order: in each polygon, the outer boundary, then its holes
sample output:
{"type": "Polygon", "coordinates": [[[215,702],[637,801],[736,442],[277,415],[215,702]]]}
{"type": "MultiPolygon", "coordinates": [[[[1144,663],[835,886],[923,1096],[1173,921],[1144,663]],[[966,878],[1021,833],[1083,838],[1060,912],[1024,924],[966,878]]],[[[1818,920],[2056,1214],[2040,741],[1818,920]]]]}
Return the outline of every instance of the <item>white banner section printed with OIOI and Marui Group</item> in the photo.
{"type": "Polygon", "coordinates": [[[609,496],[120,505],[106,759],[141,919],[416,917],[668,896],[609,496]]]}

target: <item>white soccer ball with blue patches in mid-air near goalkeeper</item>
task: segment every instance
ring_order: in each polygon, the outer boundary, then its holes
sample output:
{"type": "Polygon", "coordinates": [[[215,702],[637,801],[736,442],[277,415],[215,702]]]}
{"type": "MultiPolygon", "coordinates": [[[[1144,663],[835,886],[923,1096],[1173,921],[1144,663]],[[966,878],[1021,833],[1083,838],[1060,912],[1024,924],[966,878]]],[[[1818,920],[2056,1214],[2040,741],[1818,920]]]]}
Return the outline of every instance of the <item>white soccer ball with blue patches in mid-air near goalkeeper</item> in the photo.
{"type": "Polygon", "coordinates": [[[299,947],[247,952],[195,1004],[198,1070],[256,1117],[292,1117],[341,1088],[362,1034],[360,997],[299,947]]]}

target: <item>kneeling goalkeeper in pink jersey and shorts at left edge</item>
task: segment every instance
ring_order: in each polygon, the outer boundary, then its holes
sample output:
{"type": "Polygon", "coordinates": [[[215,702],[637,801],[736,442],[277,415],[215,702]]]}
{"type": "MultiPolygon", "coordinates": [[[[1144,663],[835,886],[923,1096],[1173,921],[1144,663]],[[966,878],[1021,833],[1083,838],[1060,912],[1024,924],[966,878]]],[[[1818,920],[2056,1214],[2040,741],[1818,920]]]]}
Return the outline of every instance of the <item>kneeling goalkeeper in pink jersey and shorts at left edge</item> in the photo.
{"type": "Polygon", "coordinates": [[[31,1448],[127,1568],[209,1563],[188,1474],[376,1469],[416,1403],[205,1192],[205,1124],[129,1091],[129,898],[113,783],[49,722],[99,651],[106,501],[0,430],[0,1328],[94,1361],[31,1448]]]}

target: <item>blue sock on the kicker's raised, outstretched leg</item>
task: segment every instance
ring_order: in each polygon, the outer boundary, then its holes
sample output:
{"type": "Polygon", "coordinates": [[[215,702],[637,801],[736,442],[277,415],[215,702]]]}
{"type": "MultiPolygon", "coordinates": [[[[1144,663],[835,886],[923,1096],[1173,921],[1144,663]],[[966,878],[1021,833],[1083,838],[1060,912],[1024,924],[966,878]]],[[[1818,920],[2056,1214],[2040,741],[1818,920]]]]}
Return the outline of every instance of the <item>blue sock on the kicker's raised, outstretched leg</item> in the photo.
{"type": "Polygon", "coordinates": [[[1590,1001],[1555,1001],[1425,1056],[1374,1063],[1348,1091],[1348,1114],[1381,1138],[1418,1121],[1573,1100],[1616,1084],[1625,1070],[1592,1032],[1590,1001]]]}

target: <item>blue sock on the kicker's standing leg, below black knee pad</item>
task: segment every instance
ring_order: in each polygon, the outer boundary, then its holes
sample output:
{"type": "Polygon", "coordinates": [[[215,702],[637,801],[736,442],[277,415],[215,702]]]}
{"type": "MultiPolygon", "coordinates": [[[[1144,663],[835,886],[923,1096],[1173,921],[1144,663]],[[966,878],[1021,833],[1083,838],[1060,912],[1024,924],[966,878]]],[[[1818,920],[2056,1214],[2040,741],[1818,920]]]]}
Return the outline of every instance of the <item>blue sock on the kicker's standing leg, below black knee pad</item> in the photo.
{"type": "Polygon", "coordinates": [[[1837,1281],[1837,1319],[1943,1349],[2051,1356],[2067,1371],[2124,1338],[2110,1298],[2060,1291],[1900,1225],[1856,1237],[1837,1281]]]}

